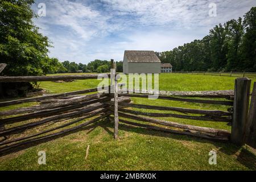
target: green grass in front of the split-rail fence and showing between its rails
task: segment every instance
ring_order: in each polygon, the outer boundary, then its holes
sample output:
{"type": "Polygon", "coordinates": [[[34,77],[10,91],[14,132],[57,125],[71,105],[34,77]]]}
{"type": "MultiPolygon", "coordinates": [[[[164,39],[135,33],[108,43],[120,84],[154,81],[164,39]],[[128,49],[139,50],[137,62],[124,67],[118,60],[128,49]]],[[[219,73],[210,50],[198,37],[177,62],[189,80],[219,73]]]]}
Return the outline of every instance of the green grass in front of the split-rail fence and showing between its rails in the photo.
{"type": "MultiPolygon", "coordinates": [[[[234,89],[235,77],[161,74],[159,90],[228,90],[234,89]]],[[[255,79],[252,79],[252,85],[255,79]]],[[[75,82],[41,82],[49,93],[63,93],[97,87],[100,80],[75,82]]],[[[196,109],[226,110],[229,106],[191,104],[188,102],[132,98],[135,104],[175,106],[196,109]]],[[[2,107],[13,109],[23,104],[2,107]]],[[[154,110],[136,109],[148,112],[154,110]]],[[[162,113],[175,113],[161,111],[162,113]]],[[[160,118],[189,125],[213,127],[230,131],[223,122],[193,121],[179,118],[160,118]]],[[[79,125],[79,122],[75,125],[79,125]]],[[[59,126],[61,123],[55,123],[59,126]]],[[[71,127],[72,127],[71,126],[71,127]]],[[[46,126],[46,128],[52,125],[46,126]]],[[[40,130],[40,129],[38,129],[40,130]]],[[[38,130],[32,130],[36,133],[38,130]]],[[[56,132],[56,131],[55,131],[56,132]]],[[[27,132],[29,133],[29,131],[27,132]]],[[[113,139],[113,123],[98,121],[64,137],[38,144],[0,157],[1,170],[255,170],[255,151],[250,147],[237,147],[231,143],[214,142],[135,126],[119,124],[119,140],[113,139]],[[88,158],[85,159],[86,148],[88,158]],[[209,151],[217,151],[217,165],[210,165],[209,151]],[[38,152],[46,151],[46,165],[38,164],[38,152]]]]}

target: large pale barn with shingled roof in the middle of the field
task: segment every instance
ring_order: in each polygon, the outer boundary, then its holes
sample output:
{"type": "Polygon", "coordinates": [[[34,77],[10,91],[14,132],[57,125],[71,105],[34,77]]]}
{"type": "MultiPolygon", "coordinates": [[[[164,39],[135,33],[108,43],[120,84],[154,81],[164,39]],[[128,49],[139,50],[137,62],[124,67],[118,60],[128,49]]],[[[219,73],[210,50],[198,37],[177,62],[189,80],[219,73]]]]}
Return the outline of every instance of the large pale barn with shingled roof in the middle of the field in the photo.
{"type": "Polygon", "coordinates": [[[154,51],[125,51],[123,73],[160,73],[161,61],[154,51]]]}

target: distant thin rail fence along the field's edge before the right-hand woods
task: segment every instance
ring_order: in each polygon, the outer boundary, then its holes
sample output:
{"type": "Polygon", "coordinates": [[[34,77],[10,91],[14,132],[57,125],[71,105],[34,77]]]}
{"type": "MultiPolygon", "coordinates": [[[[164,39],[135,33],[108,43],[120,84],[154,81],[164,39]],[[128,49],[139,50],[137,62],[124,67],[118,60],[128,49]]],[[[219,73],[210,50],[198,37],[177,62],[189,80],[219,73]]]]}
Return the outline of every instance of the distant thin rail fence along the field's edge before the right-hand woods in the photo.
{"type": "Polygon", "coordinates": [[[200,71],[173,71],[172,73],[182,73],[191,75],[212,75],[212,76],[230,76],[230,77],[256,77],[254,72],[200,72],[200,71]]]}

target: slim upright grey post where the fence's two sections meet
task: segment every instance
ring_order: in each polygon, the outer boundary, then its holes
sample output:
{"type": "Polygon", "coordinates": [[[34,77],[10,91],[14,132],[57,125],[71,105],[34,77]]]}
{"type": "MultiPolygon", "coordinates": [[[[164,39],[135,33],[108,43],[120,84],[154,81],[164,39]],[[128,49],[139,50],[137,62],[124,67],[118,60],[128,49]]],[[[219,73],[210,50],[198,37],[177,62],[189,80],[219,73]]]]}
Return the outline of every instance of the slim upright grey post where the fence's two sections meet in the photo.
{"type": "MultiPolygon", "coordinates": [[[[114,73],[116,69],[116,64],[114,64],[114,73]]],[[[114,138],[118,139],[118,84],[117,84],[117,77],[114,77],[114,121],[115,121],[115,127],[114,127],[114,138]]]]}

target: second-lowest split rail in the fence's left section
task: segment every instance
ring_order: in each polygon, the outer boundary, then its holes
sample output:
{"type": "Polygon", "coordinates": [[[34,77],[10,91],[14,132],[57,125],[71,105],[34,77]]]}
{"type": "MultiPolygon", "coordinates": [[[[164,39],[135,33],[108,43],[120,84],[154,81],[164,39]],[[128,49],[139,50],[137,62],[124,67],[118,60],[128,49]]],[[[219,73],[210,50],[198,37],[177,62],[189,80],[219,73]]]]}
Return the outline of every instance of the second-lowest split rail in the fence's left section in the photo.
{"type": "Polygon", "coordinates": [[[90,111],[89,113],[86,114],[85,117],[75,119],[75,121],[68,122],[68,123],[65,123],[64,125],[57,126],[57,127],[52,128],[52,129],[45,130],[45,131],[41,131],[41,132],[36,133],[36,134],[28,135],[27,137],[15,138],[15,139],[12,139],[12,140],[7,140],[5,142],[0,142],[0,146],[5,145],[5,144],[9,144],[9,143],[13,143],[13,142],[18,142],[18,141],[24,140],[24,139],[36,137],[36,136],[39,136],[39,135],[42,135],[42,134],[45,134],[45,133],[49,133],[50,131],[55,131],[57,129],[61,129],[61,128],[66,127],[66,126],[73,125],[74,123],[80,122],[80,121],[82,121],[86,118],[91,118],[91,117],[94,117],[97,114],[104,113],[107,110],[108,109],[106,109],[106,108],[101,108],[101,109],[97,109],[97,110],[94,110],[94,111],[90,111]]]}

